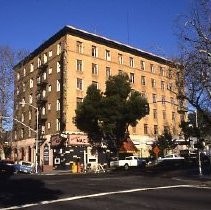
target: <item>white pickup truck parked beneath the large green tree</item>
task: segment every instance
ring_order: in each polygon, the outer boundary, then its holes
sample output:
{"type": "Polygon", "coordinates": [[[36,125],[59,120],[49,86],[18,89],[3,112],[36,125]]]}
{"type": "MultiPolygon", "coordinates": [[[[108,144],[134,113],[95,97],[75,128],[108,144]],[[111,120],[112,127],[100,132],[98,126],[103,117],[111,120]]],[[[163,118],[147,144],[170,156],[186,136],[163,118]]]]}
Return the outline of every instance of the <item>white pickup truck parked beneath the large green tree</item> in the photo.
{"type": "Polygon", "coordinates": [[[145,167],[146,161],[142,160],[137,156],[128,156],[124,160],[116,160],[110,162],[111,168],[120,168],[123,167],[125,170],[128,170],[130,167],[145,167]]]}

